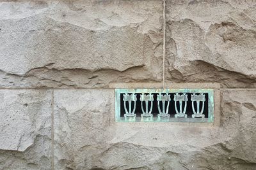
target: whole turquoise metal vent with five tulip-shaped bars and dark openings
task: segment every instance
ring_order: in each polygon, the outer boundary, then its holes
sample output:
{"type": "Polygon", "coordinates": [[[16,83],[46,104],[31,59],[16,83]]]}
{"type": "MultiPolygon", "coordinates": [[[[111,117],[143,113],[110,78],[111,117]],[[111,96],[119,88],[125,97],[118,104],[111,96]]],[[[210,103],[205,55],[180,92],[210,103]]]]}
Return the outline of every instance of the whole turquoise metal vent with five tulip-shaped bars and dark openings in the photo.
{"type": "Polygon", "coordinates": [[[213,122],[212,89],[116,89],[116,122],[213,122]]]}

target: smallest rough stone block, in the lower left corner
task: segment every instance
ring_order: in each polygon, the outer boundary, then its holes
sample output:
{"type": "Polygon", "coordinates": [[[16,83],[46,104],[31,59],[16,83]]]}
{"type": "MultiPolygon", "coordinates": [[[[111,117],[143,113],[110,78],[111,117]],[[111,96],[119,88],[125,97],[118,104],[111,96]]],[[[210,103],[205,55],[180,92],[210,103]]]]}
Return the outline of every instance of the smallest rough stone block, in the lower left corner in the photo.
{"type": "Polygon", "coordinates": [[[51,91],[0,90],[0,169],[51,169],[51,91]]]}

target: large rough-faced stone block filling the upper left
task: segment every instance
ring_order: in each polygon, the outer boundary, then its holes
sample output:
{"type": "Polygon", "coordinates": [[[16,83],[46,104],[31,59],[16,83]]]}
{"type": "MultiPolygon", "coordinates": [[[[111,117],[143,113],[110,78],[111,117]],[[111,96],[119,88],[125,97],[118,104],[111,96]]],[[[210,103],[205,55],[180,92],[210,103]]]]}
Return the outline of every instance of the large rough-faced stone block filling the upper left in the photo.
{"type": "Polygon", "coordinates": [[[161,1],[0,3],[1,87],[161,81],[161,1]]]}

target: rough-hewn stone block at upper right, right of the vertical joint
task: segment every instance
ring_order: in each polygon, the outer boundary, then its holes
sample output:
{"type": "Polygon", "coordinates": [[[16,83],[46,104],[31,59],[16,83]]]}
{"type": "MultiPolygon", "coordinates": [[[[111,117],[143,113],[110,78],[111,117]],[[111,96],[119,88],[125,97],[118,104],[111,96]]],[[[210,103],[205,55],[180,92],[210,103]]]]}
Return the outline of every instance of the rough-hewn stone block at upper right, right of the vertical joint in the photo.
{"type": "Polygon", "coordinates": [[[256,1],[167,1],[166,79],[256,87],[256,1]]]}

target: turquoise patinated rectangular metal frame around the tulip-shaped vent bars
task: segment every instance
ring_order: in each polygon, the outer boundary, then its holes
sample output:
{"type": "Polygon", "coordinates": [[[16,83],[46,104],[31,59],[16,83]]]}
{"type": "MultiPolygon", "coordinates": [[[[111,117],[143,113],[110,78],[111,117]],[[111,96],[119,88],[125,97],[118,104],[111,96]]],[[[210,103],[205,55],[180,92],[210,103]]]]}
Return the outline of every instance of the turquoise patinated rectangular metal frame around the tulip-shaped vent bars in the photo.
{"type": "Polygon", "coordinates": [[[115,121],[116,122],[214,122],[214,90],[213,89],[115,89],[115,121]],[[208,118],[169,118],[169,117],[120,117],[120,94],[127,93],[207,93],[208,118]]]}

